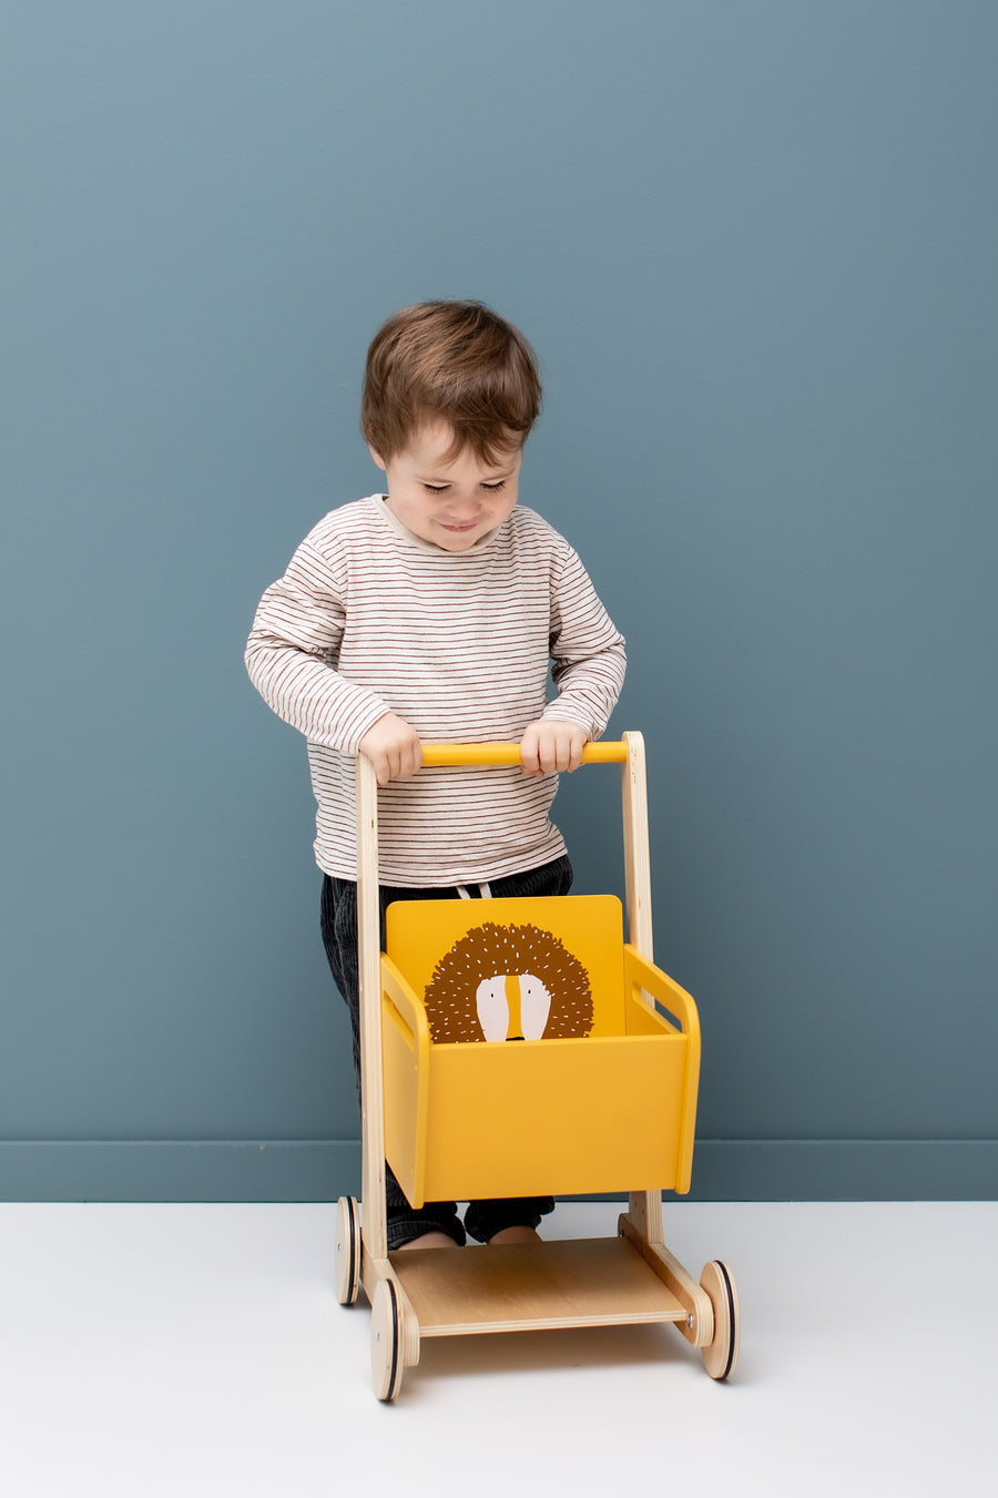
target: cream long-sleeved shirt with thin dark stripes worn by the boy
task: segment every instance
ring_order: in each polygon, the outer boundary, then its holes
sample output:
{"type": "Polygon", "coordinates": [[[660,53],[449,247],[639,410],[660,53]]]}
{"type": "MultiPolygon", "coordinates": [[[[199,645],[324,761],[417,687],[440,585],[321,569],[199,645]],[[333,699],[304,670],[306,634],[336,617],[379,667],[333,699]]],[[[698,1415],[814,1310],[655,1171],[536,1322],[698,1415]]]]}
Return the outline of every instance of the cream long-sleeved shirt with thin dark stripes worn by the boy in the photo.
{"type": "MultiPolygon", "coordinates": [[[[321,520],[267,589],[246,664],[307,739],[316,861],[354,879],[354,755],[379,718],[397,713],[426,743],[518,742],[544,716],[598,739],[625,655],[581,562],[533,511],[517,506],[471,551],[450,553],[370,494],[321,520]]],[[[560,857],[556,783],[462,767],[385,786],[382,882],[468,884],[560,857]]]]}

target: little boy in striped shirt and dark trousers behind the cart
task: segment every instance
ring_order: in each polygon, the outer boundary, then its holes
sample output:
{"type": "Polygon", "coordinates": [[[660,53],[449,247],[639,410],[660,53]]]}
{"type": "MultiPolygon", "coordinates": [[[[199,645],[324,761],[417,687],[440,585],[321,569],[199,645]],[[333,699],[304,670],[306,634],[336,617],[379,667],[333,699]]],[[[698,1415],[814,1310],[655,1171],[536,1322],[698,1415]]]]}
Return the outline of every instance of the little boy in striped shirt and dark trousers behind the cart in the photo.
{"type": "MultiPolygon", "coordinates": [[[[548,810],[623,682],[623,640],[568,542],[517,505],[541,383],[481,303],[396,313],[367,355],[361,430],[387,475],[331,511],[264,593],[246,664],[306,734],[322,938],[360,1089],[354,755],[379,791],[379,878],[399,899],[566,894],[548,810]],[[548,667],[556,695],[548,701],[548,667]],[[521,768],[421,768],[424,742],[520,745],[521,768]],[[418,771],[418,773],[417,773],[418,771]]],[[[387,1170],[388,1248],[523,1242],[551,1198],[409,1206],[387,1170]]]]}

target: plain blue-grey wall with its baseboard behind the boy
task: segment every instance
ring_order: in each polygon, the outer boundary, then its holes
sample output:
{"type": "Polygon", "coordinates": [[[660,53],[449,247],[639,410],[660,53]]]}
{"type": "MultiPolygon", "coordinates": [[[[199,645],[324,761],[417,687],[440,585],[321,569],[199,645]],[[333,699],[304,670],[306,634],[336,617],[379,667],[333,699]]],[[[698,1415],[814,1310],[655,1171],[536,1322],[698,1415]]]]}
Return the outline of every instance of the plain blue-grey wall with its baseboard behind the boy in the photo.
{"type": "Polygon", "coordinates": [[[4,0],[0,72],[0,1194],[357,1183],[241,649],[426,297],[535,342],[629,638],[695,1191],[995,1194],[998,9],[4,0]]]}

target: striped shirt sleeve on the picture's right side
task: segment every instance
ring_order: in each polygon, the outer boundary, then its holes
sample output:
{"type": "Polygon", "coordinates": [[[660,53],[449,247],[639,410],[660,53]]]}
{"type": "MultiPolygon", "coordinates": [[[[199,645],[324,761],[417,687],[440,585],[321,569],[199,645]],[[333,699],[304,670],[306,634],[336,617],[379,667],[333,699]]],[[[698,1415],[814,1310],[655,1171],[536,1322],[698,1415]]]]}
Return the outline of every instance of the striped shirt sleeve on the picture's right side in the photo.
{"type": "Polygon", "coordinates": [[[557,695],[542,716],[599,739],[623,686],[625,640],[568,542],[553,577],[550,650],[557,695]]]}

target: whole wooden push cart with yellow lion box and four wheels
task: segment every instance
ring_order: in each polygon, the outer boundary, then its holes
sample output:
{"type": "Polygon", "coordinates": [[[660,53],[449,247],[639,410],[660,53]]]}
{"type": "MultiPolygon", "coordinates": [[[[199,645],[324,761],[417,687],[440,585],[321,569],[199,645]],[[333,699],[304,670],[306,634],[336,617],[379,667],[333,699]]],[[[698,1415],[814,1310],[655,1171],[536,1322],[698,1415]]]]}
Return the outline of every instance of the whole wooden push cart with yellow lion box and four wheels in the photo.
{"type": "MultiPolygon", "coordinates": [[[[517,745],[436,745],[426,765],[518,764],[517,745]]],[[[357,761],[363,1210],[337,1206],[337,1297],[372,1305],[372,1372],[394,1399],[423,1338],[671,1321],[712,1378],[739,1354],[739,1302],[662,1237],[686,1192],[700,1028],[652,962],[644,743],[620,762],[626,941],[614,896],[400,902],[379,951],[378,785],[357,761]],[[515,1038],[520,1044],[493,1044],[515,1038]],[[475,1044],[475,1041],[480,1041],[475,1044]],[[628,1192],[617,1237],[388,1252],[385,1173],[427,1200],[628,1192]]]]}

